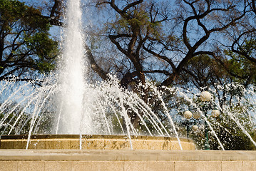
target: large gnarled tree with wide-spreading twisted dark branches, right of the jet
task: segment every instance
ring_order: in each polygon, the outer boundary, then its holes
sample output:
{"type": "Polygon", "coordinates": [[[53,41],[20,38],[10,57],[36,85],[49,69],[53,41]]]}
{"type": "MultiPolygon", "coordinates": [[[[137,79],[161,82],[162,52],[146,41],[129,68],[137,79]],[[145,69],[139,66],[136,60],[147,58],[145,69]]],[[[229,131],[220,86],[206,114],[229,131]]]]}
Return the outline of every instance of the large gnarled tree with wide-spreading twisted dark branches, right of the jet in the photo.
{"type": "Polygon", "coordinates": [[[126,84],[137,76],[143,83],[145,74],[157,73],[160,85],[173,85],[188,61],[201,55],[218,58],[222,42],[217,37],[247,14],[246,1],[112,0],[97,5],[103,4],[116,12],[106,35],[132,64],[123,76],[126,84]]]}

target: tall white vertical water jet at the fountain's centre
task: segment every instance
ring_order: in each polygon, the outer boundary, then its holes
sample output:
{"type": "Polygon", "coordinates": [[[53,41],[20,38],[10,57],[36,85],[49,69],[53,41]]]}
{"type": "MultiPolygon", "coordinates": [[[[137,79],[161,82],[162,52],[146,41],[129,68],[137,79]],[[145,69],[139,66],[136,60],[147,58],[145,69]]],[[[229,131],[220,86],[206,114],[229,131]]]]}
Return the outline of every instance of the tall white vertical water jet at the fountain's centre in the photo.
{"type": "Polygon", "coordinates": [[[59,73],[61,117],[57,121],[56,133],[79,134],[81,133],[86,76],[83,33],[81,32],[82,12],[80,0],[69,0],[66,6],[63,55],[59,63],[61,68],[59,73]]]}

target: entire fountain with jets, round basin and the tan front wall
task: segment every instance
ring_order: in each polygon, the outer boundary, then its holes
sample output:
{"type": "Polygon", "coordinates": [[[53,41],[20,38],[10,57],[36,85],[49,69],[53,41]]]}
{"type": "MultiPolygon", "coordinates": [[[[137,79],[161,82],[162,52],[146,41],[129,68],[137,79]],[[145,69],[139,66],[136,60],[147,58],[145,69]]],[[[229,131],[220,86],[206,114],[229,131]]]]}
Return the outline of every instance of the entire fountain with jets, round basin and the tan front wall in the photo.
{"type": "Polygon", "coordinates": [[[148,81],[144,86],[150,93],[145,102],[137,93],[120,88],[115,76],[110,81],[87,83],[79,3],[68,1],[59,72],[41,78],[41,86],[36,87],[34,82],[0,82],[0,111],[4,113],[0,148],[28,149],[0,150],[0,170],[255,169],[255,152],[195,151],[192,140],[180,138],[185,130],[178,126],[193,123],[190,126],[197,132],[196,128],[208,125],[211,140],[225,150],[227,145],[216,132],[222,126],[220,120],[209,117],[210,110],[214,117],[221,111],[222,120],[232,120],[256,146],[247,133],[247,125],[255,122],[253,88],[242,90],[245,98],[225,96],[230,105],[223,105],[217,99],[224,98],[224,93],[219,92],[239,86],[217,86],[209,90],[212,96],[208,99],[209,93],[200,98],[199,91],[159,88],[148,81]],[[140,121],[137,125],[131,119],[134,115],[140,121]],[[241,122],[238,118],[242,117],[247,120],[241,122]]]}

